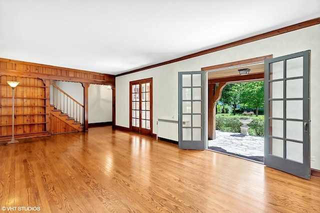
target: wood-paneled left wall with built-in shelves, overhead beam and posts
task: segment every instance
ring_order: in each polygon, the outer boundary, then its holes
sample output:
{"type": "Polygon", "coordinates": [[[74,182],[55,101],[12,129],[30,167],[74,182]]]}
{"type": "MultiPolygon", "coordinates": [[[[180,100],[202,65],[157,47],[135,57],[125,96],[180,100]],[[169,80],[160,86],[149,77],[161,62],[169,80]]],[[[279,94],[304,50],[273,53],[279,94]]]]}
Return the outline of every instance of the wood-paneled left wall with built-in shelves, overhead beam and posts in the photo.
{"type": "MultiPolygon", "coordinates": [[[[58,124],[60,121],[56,120],[55,124],[50,120],[52,80],[79,82],[87,87],[89,84],[115,87],[114,75],[0,58],[0,140],[9,140],[12,135],[12,89],[6,81],[20,82],[14,89],[14,136],[19,138],[46,135],[52,132],[51,128],[62,128],[64,131],[64,127],[58,124]]],[[[88,94],[83,95],[84,102],[87,102],[88,94]]],[[[114,107],[113,104],[112,113],[115,113],[114,107]]],[[[86,114],[84,131],[88,126],[87,117],[86,114]]],[[[66,132],[73,131],[67,128],[69,127],[65,127],[66,132]]]]}

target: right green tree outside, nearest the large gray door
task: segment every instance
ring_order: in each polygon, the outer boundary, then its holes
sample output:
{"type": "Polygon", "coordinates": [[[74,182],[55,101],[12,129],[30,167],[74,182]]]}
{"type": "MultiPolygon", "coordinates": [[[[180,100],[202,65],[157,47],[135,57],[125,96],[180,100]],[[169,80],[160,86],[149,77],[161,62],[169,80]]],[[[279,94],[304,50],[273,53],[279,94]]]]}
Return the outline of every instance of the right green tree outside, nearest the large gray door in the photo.
{"type": "Polygon", "coordinates": [[[264,106],[264,82],[254,81],[241,83],[240,103],[248,108],[255,109],[258,116],[259,107],[264,106]]]}

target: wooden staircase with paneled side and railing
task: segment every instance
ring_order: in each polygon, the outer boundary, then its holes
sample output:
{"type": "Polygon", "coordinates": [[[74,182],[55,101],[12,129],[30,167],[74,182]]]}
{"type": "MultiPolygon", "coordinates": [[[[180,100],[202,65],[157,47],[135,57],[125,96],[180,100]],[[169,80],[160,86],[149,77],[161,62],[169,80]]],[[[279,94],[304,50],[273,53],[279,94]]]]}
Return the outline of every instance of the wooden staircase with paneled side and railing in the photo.
{"type": "Polygon", "coordinates": [[[51,84],[51,134],[80,132],[83,129],[83,105],[66,92],[51,84]]]}

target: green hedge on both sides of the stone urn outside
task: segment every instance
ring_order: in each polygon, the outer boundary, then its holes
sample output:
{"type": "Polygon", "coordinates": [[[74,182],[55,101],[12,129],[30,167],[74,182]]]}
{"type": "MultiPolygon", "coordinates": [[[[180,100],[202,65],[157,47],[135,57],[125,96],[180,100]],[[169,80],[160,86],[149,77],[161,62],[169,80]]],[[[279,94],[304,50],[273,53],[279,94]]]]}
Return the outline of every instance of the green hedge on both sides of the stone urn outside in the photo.
{"type": "MultiPolygon", "coordinates": [[[[235,132],[239,133],[240,126],[242,125],[239,122],[239,115],[225,115],[225,114],[217,114],[215,115],[215,129],[221,130],[224,132],[235,132]]],[[[264,135],[264,117],[263,116],[252,116],[250,117],[252,122],[248,124],[249,135],[252,136],[263,136],[264,135]]]]}

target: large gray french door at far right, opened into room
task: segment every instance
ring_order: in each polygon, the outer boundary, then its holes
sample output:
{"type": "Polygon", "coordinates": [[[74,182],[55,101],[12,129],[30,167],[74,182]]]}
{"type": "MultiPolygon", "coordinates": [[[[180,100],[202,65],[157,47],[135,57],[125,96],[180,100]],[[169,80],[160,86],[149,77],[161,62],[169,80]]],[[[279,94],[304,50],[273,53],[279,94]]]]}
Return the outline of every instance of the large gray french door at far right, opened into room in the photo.
{"type": "Polygon", "coordinates": [[[264,164],[310,178],[309,56],[264,61],[264,164]]]}

